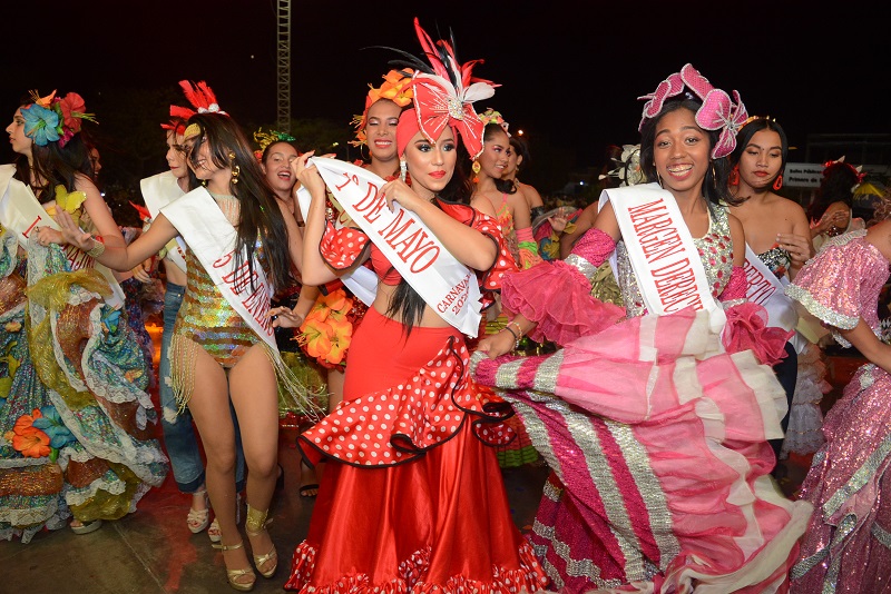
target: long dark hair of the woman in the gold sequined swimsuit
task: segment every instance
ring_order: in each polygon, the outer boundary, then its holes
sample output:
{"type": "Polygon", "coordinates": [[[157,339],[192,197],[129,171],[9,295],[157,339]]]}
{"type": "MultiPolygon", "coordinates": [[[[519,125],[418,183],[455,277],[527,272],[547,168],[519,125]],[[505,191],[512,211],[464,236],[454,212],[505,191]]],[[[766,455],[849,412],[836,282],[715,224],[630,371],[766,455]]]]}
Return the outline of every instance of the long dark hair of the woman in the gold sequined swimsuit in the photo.
{"type": "Polygon", "coordinates": [[[196,113],[188,119],[188,123],[200,128],[188,157],[193,166],[196,164],[198,149],[206,141],[210,161],[215,166],[238,168],[238,182],[229,184],[229,191],[239,204],[235,267],[239,268],[244,264],[246,250],[253,289],[254,251],[260,237],[273,287],[286,286],[291,269],[287,227],[275,194],[266,181],[244,131],[229,116],[219,113],[196,113]],[[233,158],[229,157],[231,154],[234,155],[233,158]]]}

